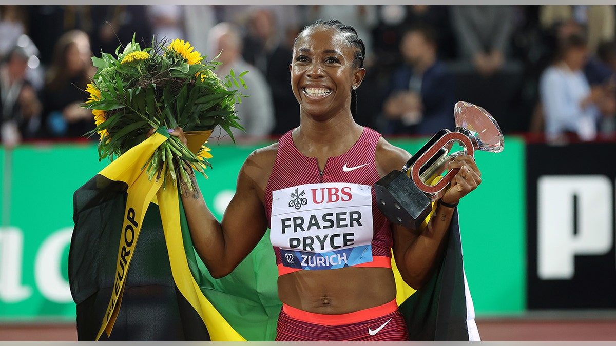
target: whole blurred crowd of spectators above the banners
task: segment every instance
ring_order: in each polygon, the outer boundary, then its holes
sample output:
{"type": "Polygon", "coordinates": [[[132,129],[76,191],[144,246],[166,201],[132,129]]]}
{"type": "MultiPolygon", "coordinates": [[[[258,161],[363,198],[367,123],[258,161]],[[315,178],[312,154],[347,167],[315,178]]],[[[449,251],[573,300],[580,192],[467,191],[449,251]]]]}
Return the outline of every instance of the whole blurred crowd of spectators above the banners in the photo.
{"type": "Polygon", "coordinates": [[[121,44],[190,41],[245,75],[240,140],[299,125],[293,42],[318,18],[354,26],[366,44],[357,122],[385,135],[453,129],[453,105],[484,107],[505,134],[549,142],[616,135],[616,6],[0,6],[4,145],[97,140],[81,107],[91,57],[121,44]],[[243,137],[243,139],[242,139],[243,137]]]}

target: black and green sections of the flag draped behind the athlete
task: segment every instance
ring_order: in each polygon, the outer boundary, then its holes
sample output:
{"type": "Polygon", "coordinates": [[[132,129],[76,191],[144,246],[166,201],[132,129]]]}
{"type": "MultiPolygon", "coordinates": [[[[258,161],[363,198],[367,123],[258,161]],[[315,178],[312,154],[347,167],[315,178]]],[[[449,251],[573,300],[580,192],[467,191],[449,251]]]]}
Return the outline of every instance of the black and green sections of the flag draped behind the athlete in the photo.
{"type": "MultiPolygon", "coordinates": [[[[69,253],[69,281],[77,305],[79,340],[94,340],[113,286],[126,184],[96,175],[74,195],[75,231],[69,253]]],[[[242,337],[270,341],[281,303],[274,251],[265,235],[230,275],[211,278],[193,249],[180,201],[180,224],[188,267],[203,295],[242,337]]],[[[464,277],[458,213],[449,230],[442,265],[429,283],[402,304],[411,340],[478,340],[472,300],[464,277]]],[[[101,340],[209,340],[208,329],[180,294],[169,266],[160,211],[145,214],[139,245],[111,336],[101,340]]]]}

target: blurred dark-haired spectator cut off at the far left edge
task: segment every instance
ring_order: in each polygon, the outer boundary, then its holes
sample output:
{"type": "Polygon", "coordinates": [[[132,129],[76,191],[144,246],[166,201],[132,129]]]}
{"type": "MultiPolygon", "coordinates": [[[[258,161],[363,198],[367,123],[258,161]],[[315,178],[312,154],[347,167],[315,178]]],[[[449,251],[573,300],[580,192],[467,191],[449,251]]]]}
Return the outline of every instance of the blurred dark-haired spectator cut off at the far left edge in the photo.
{"type": "Polygon", "coordinates": [[[25,49],[15,46],[0,66],[0,140],[4,145],[38,136],[42,104],[26,78],[28,58],[25,49]]]}

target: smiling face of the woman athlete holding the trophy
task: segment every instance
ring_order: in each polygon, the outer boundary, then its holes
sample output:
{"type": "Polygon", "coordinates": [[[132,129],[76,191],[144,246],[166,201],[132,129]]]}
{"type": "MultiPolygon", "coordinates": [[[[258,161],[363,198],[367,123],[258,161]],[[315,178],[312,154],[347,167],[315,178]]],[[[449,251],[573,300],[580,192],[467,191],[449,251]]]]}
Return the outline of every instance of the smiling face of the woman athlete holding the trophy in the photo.
{"type": "Polygon", "coordinates": [[[304,30],[293,47],[291,87],[302,113],[333,118],[351,111],[351,87],[365,70],[354,67],[355,48],[331,26],[304,30]]]}

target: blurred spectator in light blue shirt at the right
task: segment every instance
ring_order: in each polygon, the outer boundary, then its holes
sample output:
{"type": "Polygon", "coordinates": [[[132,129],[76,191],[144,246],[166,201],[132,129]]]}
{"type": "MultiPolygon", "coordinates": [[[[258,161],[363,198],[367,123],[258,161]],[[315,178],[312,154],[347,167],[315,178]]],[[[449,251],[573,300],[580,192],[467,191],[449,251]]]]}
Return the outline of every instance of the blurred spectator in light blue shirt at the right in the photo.
{"type": "Polygon", "coordinates": [[[599,120],[599,102],[606,96],[601,87],[591,89],[583,66],[588,55],[585,37],[573,33],[560,42],[553,65],[540,78],[540,99],[548,142],[567,141],[567,133],[580,140],[594,140],[599,120]]]}

